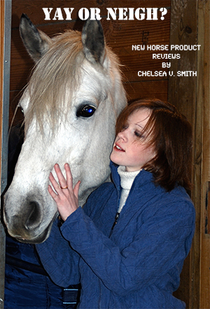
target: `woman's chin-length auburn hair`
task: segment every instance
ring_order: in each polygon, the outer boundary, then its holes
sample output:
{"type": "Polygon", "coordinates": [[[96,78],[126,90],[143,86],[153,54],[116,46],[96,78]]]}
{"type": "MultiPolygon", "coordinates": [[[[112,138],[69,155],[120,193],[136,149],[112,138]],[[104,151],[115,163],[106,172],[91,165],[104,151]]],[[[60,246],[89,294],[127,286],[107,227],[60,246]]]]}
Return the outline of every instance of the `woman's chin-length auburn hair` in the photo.
{"type": "Polygon", "coordinates": [[[120,113],[116,122],[116,135],[123,131],[127,118],[140,108],[151,110],[144,131],[148,132],[148,146],[153,145],[156,154],[142,168],[153,173],[155,184],[164,187],[167,192],[176,185],[190,192],[193,148],[190,123],[171,103],[141,99],[130,103],[120,113]]]}

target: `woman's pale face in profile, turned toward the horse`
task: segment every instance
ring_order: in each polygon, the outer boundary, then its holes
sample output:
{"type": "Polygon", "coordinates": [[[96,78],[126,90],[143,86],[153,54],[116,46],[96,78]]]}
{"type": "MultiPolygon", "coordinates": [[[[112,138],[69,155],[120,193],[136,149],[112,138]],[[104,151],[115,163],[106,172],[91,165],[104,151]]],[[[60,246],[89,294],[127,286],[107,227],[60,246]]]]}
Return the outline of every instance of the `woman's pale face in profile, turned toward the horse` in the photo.
{"type": "Polygon", "coordinates": [[[140,108],[132,113],[123,131],[116,136],[110,159],[125,166],[126,171],[139,171],[155,157],[153,146],[148,146],[148,133],[144,131],[150,113],[148,108],[140,108]]]}

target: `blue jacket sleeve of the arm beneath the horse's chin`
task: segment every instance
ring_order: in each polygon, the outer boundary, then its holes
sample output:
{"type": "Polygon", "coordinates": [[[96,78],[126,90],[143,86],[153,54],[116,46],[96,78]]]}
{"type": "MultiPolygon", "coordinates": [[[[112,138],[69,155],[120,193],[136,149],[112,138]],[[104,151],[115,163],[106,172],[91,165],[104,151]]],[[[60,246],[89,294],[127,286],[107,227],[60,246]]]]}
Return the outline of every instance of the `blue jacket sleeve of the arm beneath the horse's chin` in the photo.
{"type": "Polygon", "coordinates": [[[50,236],[44,243],[36,245],[36,250],[52,281],[61,287],[69,287],[79,283],[79,255],[63,238],[57,223],[55,220],[50,236]]]}

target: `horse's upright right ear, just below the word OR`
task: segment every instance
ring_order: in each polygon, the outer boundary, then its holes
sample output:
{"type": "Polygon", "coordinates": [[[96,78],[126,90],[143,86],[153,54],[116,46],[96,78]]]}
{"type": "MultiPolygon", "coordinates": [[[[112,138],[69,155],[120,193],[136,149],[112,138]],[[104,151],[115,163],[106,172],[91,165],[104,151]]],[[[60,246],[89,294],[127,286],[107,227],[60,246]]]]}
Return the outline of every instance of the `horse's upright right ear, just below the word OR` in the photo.
{"type": "Polygon", "coordinates": [[[92,63],[104,61],[104,31],[99,20],[88,19],[82,31],[82,42],[85,57],[92,63]]]}

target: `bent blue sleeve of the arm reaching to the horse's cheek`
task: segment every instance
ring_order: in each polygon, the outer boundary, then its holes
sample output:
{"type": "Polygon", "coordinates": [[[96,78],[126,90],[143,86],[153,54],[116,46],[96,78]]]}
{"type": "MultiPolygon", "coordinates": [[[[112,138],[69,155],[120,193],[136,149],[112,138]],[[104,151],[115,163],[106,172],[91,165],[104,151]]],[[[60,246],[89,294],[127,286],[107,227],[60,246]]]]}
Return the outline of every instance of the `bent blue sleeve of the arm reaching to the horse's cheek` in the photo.
{"type": "Polygon", "coordinates": [[[82,208],[67,218],[61,231],[104,285],[114,294],[125,296],[161,280],[173,268],[182,267],[194,225],[193,205],[182,202],[160,208],[121,251],[95,227],[82,208]]]}

